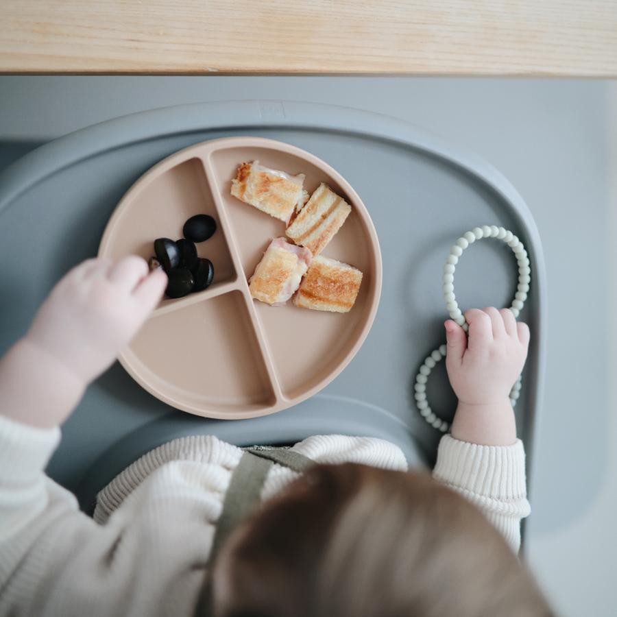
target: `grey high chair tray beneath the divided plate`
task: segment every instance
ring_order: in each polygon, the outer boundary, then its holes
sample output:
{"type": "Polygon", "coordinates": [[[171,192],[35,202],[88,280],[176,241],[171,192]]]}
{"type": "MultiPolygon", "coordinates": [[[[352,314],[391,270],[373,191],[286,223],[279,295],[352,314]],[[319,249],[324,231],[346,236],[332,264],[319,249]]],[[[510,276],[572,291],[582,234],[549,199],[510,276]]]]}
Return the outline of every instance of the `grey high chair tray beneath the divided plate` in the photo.
{"type": "MultiPolygon", "coordinates": [[[[389,439],[410,465],[430,464],[441,433],[418,413],[413,386],[427,354],[444,342],[441,291],[450,246],[468,230],[503,226],[524,243],[531,290],[520,319],[531,326],[516,417],[533,460],[541,400],[546,292],[531,213],[487,162],[407,123],[359,110],[288,101],[231,101],[141,112],[44,145],[0,176],[0,350],[23,334],[40,302],[73,265],[97,253],[122,195],[149,167],[184,147],[224,136],[263,136],[305,149],[359,193],[377,230],[383,290],[372,330],[350,365],[321,393],[250,420],[206,420],[172,409],[116,363],[90,386],[63,427],[48,472],[88,509],[97,490],[169,439],[211,433],[234,444],[289,444],[343,433],[389,439]]],[[[509,306],[516,259],[498,241],[474,243],[457,265],[457,300],[509,306]]],[[[446,421],[455,397],[440,363],[427,386],[446,421]]]]}

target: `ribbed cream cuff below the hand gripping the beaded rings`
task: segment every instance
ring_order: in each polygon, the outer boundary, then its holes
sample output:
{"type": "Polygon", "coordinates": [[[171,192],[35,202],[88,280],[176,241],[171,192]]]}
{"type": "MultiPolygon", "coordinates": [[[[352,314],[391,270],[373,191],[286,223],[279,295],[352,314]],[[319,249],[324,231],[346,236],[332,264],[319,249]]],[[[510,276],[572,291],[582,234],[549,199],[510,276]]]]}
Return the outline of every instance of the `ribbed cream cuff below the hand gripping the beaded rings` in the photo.
{"type": "Polygon", "coordinates": [[[512,446],[478,446],[444,435],[433,476],[485,497],[513,500],[527,495],[520,439],[512,446]]]}

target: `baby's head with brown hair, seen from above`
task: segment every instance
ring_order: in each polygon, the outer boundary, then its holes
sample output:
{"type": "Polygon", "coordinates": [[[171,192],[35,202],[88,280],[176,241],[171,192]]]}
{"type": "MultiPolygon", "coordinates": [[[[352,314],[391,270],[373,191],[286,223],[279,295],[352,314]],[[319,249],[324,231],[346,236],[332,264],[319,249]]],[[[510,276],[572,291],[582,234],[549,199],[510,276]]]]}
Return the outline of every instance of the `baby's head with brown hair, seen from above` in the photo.
{"type": "Polygon", "coordinates": [[[319,465],[230,537],[215,617],[552,614],[483,515],[431,477],[319,465]]]}

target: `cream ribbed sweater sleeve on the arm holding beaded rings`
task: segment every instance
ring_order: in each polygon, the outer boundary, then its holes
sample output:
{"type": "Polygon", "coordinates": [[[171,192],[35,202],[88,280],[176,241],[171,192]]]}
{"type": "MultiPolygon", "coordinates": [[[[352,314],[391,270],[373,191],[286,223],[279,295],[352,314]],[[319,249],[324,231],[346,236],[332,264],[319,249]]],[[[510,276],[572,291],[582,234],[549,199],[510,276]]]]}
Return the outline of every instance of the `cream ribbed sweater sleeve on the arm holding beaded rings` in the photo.
{"type": "Polygon", "coordinates": [[[520,548],[520,521],[529,516],[522,441],[512,446],[478,446],[444,435],[433,477],[468,498],[520,548]]]}

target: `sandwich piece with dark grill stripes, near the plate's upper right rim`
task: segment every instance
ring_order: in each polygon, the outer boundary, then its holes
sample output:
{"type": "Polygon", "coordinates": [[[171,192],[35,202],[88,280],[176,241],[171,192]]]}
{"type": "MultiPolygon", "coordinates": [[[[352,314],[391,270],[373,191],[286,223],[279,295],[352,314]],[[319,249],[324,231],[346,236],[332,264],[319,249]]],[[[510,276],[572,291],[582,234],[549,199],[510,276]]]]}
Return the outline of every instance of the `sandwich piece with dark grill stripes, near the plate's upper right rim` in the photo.
{"type": "Polygon", "coordinates": [[[285,233],[296,244],[318,255],[341,228],[350,212],[351,206],[343,197],[339,197],[327,184],[319,184],[285,233]]]}

